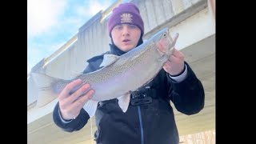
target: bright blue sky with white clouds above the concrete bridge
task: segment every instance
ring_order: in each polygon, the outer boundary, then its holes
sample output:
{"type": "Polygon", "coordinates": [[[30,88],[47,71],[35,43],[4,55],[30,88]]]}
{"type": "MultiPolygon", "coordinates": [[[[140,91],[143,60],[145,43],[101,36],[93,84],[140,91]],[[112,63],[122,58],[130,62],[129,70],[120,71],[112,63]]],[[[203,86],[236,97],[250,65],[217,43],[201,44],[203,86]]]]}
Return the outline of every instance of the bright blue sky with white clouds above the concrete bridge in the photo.
{"type": "Polygon", "coordinates": [[[27,74],[115,0],[27,0],[27,74]]]}

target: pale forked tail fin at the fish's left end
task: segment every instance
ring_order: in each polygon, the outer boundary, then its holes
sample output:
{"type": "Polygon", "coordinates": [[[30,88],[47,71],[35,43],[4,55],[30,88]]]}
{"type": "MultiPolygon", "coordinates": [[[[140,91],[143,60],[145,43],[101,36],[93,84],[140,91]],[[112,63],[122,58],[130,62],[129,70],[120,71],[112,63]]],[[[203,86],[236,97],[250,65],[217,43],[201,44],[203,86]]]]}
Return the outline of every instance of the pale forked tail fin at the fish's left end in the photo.
{"type": "Polygon", "coordinates": [[[31,75],[35,85],[38,87],[38,107],[45,106],[58,97],[58,94],[51,89],[51,83],[57,81],[58,78],[41,73],[31,73],[31,75]]]}

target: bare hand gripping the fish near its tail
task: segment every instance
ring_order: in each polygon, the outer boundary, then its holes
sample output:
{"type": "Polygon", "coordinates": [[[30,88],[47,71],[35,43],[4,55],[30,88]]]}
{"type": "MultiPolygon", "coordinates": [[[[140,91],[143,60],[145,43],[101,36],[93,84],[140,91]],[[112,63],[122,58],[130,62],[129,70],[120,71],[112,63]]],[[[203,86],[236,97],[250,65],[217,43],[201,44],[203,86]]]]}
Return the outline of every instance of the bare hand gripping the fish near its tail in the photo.
{"type": "Polygon", "coordinates": [[[70,91],[74,87],[82,84],[81,79],[74,80],[70,82],[58,95],[59,108],[62,114],[62,118],[65,120],[70,120],[78,117],[82,107],[92,98],[94,90],[89,90],[90,85],[86,83],[84,86],[80,87],[73,94],[70,94],[70,91]],[[86,94],[85,92],[89,90],[86,94]],[[82,97],[80,97],[84,94],[82,97]]]}

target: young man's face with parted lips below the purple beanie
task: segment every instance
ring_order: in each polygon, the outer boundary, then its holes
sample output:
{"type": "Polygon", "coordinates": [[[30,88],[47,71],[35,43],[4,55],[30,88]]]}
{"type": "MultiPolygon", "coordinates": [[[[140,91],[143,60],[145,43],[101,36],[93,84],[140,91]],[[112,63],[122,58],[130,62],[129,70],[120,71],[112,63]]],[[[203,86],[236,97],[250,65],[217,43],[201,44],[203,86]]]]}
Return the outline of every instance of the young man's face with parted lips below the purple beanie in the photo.
{"type": "Polygon", "coordinates": [[[127,52],[137,46],[141,33],[142,32],[138,26],[120,24],[114,26],[111,31],[111,36],[115,46],[118,46],[120,50],[127,52]]]}

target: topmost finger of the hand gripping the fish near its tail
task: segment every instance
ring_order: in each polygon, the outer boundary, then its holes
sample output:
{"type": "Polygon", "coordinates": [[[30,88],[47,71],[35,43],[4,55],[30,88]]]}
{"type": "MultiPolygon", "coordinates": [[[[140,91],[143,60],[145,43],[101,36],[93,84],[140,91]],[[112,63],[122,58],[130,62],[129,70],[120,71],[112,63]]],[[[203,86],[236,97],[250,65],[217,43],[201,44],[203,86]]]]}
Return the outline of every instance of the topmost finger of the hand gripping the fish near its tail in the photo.
{"type": "Polygon", "coordinates": [[[62,90],[62,92],[58,95],[58,99],[62,100],[63,98],[70,96],[70,91],[74,89],[75,86],[79,86],[82,84],[81,79],[77,79],[73,82],[70,82],[68,85],[65,86],[65,88],[62,90]]]}

